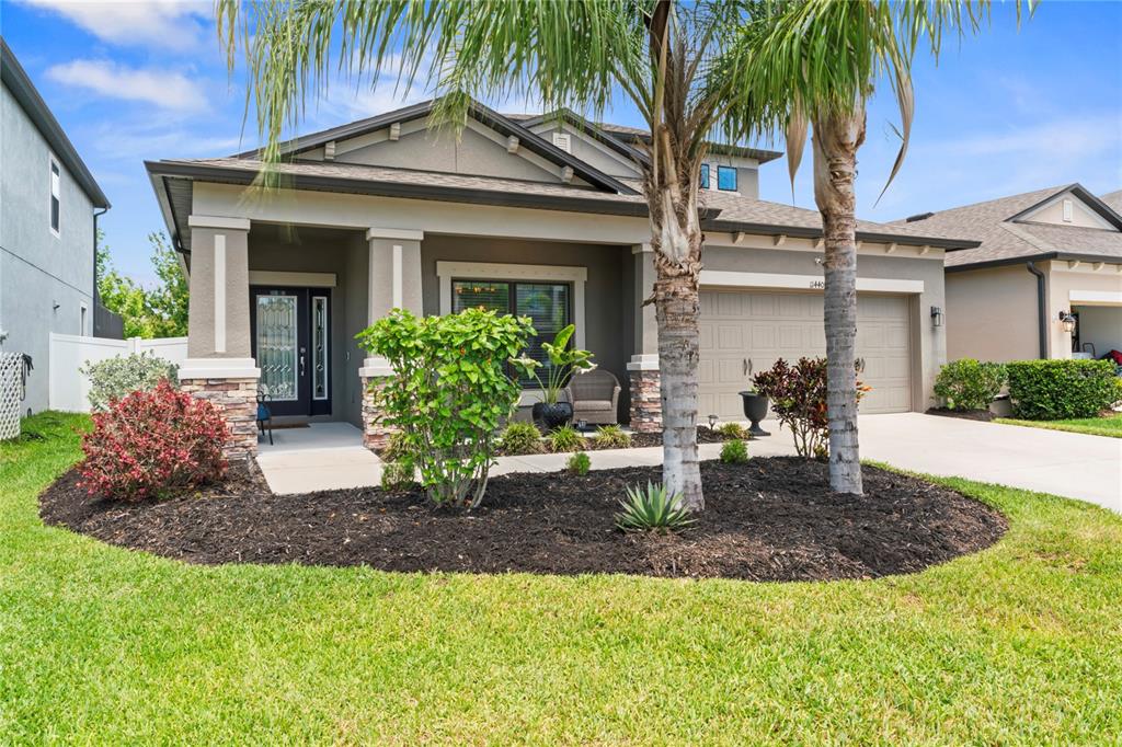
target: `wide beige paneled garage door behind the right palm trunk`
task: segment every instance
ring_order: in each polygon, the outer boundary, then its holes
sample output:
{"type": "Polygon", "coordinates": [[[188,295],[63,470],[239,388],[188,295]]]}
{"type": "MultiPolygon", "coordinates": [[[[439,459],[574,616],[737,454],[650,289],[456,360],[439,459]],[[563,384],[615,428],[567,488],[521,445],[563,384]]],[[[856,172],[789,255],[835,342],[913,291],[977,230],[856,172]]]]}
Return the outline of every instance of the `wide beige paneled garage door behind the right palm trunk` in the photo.
{"type": "MultiPolygon", "coordinates": [[[[905,296],[857,298],[857,356],[865,359],[861,380],[873,387],[862,413],[901,413],[911,408],[911,354],[905,296]]],[[[741,397],[751,371],[783,358],[826,354],[822,296],[767,290],[701,292],[701,363],[698,419],[709,414],[743,419],[741,397]]]]}

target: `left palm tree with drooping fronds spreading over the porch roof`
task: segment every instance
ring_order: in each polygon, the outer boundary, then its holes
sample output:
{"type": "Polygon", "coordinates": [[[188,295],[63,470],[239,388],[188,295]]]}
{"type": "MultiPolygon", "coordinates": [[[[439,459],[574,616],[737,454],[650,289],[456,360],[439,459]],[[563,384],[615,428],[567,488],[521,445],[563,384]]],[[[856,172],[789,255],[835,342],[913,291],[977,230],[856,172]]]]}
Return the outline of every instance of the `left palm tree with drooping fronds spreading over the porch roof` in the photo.
{"type": "Polygon", "coordinates": [[[687,507],[703,508],[698,187],[711,130],[747,91],[712,74],[743,8],[674,0],[219,0],[218,7],[231,70],[239,42],[246,49],[266,163],[279,157],[282,132],[306,96],[324,90],[335,54],[344,73],[371,85],[384,65],[396,66],[406,85],[435,71],[434,117],[453,126],[462,126],[471,96],[523,90],[551,110],[599,114],[620,93],[634,103],[651,130],[640,166],[657,268],[646,303],[655,304],[659,329],[663,480],[687,507]]]}

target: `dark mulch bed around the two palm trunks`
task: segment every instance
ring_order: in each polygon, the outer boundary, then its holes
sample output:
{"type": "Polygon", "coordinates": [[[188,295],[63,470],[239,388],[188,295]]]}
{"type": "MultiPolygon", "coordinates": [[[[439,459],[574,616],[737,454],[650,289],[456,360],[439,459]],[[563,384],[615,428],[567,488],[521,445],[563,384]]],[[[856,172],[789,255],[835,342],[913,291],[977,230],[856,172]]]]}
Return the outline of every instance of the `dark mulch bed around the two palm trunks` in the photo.
{"type": "Polygon", "coordinates": [[[495,478],[473,511],[373,488],[273,496],[257,483],[159,502],[89,498],[67,472],[40,497],[47,524],[192,563],[366,564],[387,571],[633,573],[761,581],[920,571],[994,543],[996,510],[865,468],[866,495],[831,494],[826,465],[794,458],[703,462],[706,510],[677,535],[614,527],[624,486],[659,468],[495,478]]]}

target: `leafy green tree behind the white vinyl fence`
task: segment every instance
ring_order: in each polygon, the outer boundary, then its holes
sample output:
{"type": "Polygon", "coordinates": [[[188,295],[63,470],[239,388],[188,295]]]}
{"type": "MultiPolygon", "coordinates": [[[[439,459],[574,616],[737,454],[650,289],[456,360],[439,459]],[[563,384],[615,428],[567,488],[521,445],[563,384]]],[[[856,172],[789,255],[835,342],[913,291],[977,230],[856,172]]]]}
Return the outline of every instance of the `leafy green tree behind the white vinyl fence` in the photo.
{"type": "Polygon", "coordinates": [[[180,258],[160,232],[148,234],[151,265],[158,283],[146,288],[121,275],[109,258],[109,247],[98,241],[98,296],[121,315],[126,338],[181,338],[187,334],[187,278],[180,258]]]}

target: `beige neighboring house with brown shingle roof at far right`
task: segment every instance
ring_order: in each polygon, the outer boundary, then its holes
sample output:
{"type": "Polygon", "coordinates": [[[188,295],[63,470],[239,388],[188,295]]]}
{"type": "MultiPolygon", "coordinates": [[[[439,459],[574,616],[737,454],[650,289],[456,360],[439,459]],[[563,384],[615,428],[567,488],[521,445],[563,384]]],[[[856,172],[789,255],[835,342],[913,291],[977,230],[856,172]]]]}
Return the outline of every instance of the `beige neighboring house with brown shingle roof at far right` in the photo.
{"type": "Polygon", "coordinates": [[[1122,350],[1120,212],[1122,192],[1100,199],[1072,184],[899,222],[982,242],[947,255],[947,357],[1010,361],[1122,350]]]}

